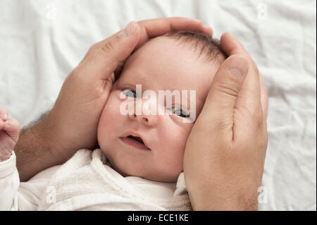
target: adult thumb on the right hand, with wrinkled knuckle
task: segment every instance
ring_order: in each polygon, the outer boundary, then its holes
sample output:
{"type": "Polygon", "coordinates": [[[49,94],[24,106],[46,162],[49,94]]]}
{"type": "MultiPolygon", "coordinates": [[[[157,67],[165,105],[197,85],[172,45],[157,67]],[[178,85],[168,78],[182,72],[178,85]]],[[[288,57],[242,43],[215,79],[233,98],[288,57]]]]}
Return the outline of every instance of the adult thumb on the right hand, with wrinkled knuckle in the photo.
{"type": "Polygon", "coordinates": [[[213,121],[211,132],[226,136],[232,132],[235,103],[248,70],[247,58],[238,54],[228,57],[218,68],[203,109],[213,121]]]}

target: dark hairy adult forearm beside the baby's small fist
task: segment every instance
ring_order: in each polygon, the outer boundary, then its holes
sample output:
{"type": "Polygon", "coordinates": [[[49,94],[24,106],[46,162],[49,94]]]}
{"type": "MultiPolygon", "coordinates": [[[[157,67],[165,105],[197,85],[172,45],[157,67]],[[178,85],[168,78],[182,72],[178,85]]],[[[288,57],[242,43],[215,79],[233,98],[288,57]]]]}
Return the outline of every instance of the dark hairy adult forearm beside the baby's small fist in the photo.
{"type": "Polygon", "coordinates": [[[37,123],[21,130],[20,138],[15,145],[20,181],[28,181],[39,171],[63,164],[73,153],[63,151],[61,140],[54,134],[48,115],[42,116],[37,123]]]}

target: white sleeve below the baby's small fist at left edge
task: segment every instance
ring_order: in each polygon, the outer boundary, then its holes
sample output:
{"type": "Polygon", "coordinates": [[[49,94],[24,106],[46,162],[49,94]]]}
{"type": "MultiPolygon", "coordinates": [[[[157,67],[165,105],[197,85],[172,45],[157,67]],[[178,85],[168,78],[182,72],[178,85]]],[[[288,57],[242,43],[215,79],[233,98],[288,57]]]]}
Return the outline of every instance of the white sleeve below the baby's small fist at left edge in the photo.
{"type": "Polygon", "coordinates": [[[20,178],[13,151],[9,159],[0,162],[0,210],[13,209],[13,202],[18,198],[19,185],[20,178]]]}

